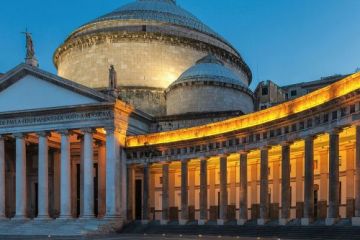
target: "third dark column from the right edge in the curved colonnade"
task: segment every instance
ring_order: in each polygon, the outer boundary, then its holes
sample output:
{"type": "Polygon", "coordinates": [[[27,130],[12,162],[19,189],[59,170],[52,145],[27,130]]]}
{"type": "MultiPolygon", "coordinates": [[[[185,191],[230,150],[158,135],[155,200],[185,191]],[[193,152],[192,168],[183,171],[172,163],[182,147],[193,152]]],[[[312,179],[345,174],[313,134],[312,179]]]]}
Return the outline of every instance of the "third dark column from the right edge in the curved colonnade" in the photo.
{"type": "Polygon", "coordinates": [[[301,225],[309,225],[314,219],[314,136],[305,138],[304,217],[301,225]]]}

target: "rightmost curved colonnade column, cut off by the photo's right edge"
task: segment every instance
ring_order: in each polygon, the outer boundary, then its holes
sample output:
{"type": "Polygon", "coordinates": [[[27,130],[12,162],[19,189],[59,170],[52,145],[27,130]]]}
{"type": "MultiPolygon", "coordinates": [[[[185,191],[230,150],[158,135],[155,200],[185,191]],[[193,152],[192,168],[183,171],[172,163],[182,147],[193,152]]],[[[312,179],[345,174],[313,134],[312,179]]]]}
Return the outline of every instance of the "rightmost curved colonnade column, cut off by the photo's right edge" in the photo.
{"type": "Polygon", "coordinates": [[[355,217],[353,226],[360,226],[360,125],[356,126],[355,136],[355,217]]]}

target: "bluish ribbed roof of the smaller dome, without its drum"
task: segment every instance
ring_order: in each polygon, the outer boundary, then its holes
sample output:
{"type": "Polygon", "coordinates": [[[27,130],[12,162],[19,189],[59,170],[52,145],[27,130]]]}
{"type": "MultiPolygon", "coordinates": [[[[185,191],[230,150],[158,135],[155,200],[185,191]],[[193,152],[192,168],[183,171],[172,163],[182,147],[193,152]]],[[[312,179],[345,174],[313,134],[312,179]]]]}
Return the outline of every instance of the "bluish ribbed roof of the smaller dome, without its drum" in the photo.
{"type": "Polygon", "coordinates": [[[186,82],[213,81],[245,87],[240,77],[214,55],[200,59],[194,66],[186,70],[169,89],[186,82]]]}

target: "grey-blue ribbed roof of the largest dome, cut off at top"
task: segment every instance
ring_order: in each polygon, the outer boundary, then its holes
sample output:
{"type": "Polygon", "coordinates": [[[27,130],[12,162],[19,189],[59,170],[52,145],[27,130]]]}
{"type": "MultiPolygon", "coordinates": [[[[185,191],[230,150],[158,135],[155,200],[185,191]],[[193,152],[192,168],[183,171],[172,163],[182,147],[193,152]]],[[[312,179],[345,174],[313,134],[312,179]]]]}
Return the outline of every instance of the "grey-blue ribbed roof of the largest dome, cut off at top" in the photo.
{"type": "Polygon", "coordinates": [[[158,21],[194,29],[226,42],[208,26],[188,11],[176,5],[175,0],[137,0],[115,11],[101,16],[90,23],[107,20],[158,21]]]}

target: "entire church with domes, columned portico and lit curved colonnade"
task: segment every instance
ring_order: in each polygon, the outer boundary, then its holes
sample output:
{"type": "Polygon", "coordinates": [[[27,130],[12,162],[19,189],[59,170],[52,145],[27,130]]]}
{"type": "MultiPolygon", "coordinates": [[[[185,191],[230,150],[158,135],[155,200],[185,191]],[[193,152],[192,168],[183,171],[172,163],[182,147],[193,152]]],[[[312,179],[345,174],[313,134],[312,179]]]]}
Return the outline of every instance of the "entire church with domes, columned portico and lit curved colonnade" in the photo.
{"type": "Polygon", "coordinates": [[[360,225],[359,73],[254,111],[240,53],[175,0],[81,26],[54,64],[27,34],[0,76],[0,219],[360,225]]]}

